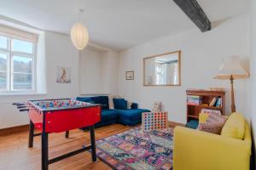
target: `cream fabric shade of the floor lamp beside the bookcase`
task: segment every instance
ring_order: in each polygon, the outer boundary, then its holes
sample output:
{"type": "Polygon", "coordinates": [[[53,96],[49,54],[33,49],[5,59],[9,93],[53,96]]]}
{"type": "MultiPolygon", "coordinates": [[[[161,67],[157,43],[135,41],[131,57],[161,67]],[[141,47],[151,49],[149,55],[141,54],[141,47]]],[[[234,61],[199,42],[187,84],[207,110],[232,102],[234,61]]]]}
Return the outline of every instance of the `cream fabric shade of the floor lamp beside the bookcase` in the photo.
{"type": "Polygon", "coordinates": [[[237,56],[224,58],[219,67],[218,75],[214,78],[230,79],[231,76],[235,79],[248,77],[247,71],[241,66],[240,59],[237,56]]]}

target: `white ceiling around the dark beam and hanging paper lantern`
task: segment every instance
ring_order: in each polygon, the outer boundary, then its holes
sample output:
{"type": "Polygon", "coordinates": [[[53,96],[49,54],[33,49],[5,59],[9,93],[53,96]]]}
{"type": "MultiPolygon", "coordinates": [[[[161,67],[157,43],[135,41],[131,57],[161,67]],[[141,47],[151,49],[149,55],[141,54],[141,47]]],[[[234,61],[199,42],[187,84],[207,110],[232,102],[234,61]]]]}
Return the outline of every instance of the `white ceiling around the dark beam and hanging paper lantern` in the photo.
{"type": "MultiPolygon", "coordinates": [[[[198,0],[209,20],[247,10],[247,0],[198,0]]],[[[79,19],[90,42],[124,50],[196,28],[172,0],[0,0],[0,14],[47,31],[69,34],[79,19]]]]}

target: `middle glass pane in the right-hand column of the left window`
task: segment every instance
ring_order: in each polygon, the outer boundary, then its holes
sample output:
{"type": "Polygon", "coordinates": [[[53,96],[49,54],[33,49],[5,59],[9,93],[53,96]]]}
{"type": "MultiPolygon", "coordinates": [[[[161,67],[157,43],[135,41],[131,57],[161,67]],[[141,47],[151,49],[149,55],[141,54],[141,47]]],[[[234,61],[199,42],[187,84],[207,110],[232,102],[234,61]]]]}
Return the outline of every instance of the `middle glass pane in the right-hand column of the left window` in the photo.
{"type": "Polygon", "coordinates": [[[14,56],[14,72],[32,73],[32,58],[14,56]]]}

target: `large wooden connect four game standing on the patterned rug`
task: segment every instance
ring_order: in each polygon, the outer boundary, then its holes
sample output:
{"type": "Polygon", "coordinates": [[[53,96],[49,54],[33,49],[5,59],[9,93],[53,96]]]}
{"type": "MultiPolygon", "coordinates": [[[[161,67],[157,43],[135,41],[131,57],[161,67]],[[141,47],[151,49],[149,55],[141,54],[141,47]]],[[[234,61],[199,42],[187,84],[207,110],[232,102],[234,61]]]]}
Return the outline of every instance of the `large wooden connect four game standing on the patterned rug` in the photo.
{"type": "Polygon", "coordinates": [[[145,132],[167,128],[168,112],[145,112],[142,122],[142,130],[145,132]]]}

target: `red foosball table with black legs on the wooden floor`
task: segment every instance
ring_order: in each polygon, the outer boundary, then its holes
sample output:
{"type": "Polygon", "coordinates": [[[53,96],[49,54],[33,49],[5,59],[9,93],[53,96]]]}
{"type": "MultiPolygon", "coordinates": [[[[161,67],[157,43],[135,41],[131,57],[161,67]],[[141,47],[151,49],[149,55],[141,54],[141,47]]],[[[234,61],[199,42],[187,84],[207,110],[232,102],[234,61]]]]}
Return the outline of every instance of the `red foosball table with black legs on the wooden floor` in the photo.
{"type": "Polygon", "coordinates": [[[33,146],[33,138],[35,136],[42,136],[43,170],[48,170],[49,164],[55,161],[61,161],[85,150],[91,150],[92,161],[96,161],[94,124],[101,121],[101,105],[85,103],[75,99],[28,100],[26,104],[15,103],[14,105],[20,111],[28,111],[30,119],[28,147],[33,146]],[[49,160],[49,133],[65,132],[65,136],[68,138],[70,130],[80,127],[90,127],[90,145],[49,160]],[[34,133],[34,128],[41,133],[34,133]]]}

